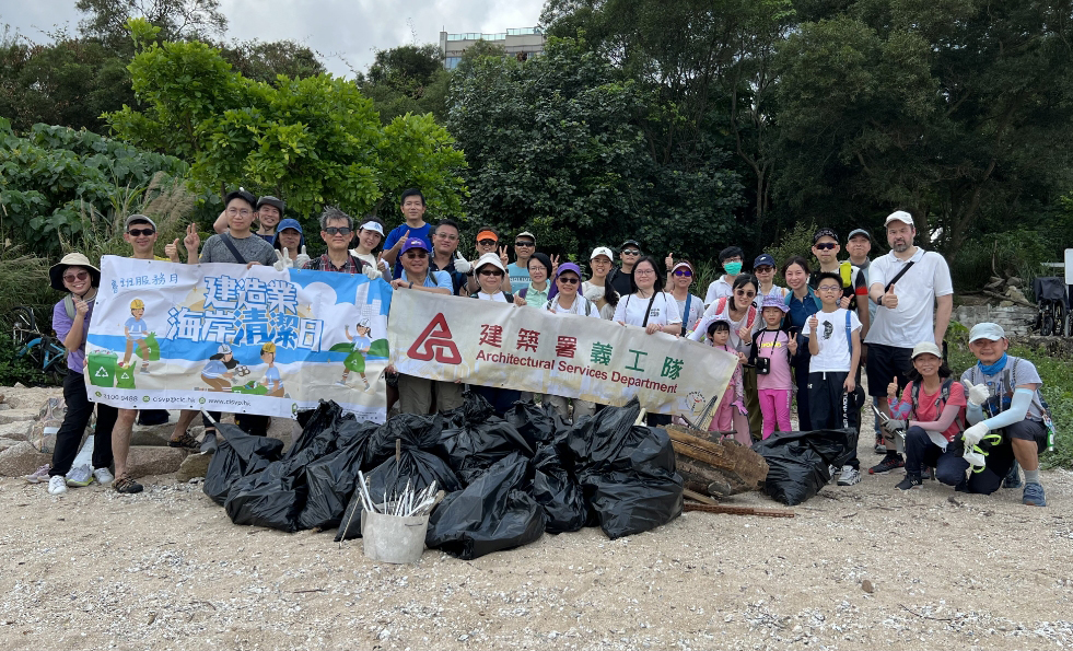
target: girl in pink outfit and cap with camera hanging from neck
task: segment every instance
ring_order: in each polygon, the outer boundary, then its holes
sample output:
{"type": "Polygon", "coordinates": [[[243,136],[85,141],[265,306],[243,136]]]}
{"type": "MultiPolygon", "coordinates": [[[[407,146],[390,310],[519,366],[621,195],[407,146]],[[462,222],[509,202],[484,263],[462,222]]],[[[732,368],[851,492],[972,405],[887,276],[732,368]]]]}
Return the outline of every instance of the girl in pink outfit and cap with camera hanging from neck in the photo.
{"type": "Polygon", "coordinates": [[[780,432],[792,429],[790,396],[793,382],[790,377],[790,358],[797,352],[797,335],[788,337],[780,329],[782,317],[790,310],[782,298],[763,297],[760,310],[766,327],[753,338],[753,365],[756,367],[760,412],[763,415],[761,438],[767,439],[777,427],[780,432]]]}

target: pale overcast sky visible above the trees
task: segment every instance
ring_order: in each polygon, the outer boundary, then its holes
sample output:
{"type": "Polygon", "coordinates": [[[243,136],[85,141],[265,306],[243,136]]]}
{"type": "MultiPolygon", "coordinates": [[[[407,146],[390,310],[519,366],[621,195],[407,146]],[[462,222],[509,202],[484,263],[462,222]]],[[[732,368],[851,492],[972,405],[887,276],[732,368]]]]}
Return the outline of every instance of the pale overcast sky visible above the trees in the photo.
{"type": "MultiPolygon", "coordinates": [[[[2,0],[0,24],[36,42],[80,20],[75,0],[2,0]]],[[[377,49],[439,43],[440,31],[505,32],[533,27],[543,0],[221,0],[228,38],[296,40],[320,54],[328,70],[363,71],[377,49]]]]}

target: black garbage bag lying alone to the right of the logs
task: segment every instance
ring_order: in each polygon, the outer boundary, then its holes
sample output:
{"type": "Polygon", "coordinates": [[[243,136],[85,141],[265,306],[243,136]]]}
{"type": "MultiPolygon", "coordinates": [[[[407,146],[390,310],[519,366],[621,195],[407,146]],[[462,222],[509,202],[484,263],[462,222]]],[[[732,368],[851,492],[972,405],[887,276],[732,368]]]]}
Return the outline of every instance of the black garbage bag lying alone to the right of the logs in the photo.
{"type": "Polygon", "coordinates": [[[841,467],[856,450],[855,430],[775,432],[753,444],[768,462],[763,492],[793,507],[815,496],[831,480],[830,466],[841,467]]]}

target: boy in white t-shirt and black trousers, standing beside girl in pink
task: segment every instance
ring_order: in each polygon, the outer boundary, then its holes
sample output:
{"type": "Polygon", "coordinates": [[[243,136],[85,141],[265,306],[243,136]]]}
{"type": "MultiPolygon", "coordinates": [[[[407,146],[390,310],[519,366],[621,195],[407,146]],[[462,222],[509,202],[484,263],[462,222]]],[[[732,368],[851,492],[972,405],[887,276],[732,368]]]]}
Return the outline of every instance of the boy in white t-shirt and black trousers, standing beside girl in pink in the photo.
{"type": "MultiPolygon", "coordinates": [[[[816,293],[823,307],[808,317],[801,334],[808,337],[808,410],[813,429],[856,429],[860,410],[853,407],[858,365],[861,362],[861,322],[838,306],[842,279],[838,274],[817,275],[816,293]]],[[[856,453],[842,466],[839,486],[861,480],[856,453]]]]}

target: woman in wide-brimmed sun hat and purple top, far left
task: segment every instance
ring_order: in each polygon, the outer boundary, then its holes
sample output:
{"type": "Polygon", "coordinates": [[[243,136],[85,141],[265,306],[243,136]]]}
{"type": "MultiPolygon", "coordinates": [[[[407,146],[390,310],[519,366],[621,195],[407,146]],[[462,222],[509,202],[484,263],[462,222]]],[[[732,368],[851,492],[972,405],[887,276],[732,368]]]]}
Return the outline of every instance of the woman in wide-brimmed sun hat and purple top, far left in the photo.
{"type": "MultiPolygon", "coordinates": [[[[67,473],[78,455],[82,433],[93,416],[94,404],[85,391],[85,337],[90,332],[93,316],[93,302],[101,284],[101,270],[90,264],[81,253],[69,253],[48,270],[53,289],[67,292],[53,309],[53,329],[67,349],[68,373],[63,377],[63,402],[67,414],[63,425],[56,432],[56,450],[53,451],[53,467],[48,470],[48,492],[67,492],[67,473]]],[[[113,480],[112,472],[112,430],[116,425],[118,410],[101,403],[96,404],[97,422],[93,433],[93,479],[101,484],[113,480]]],[[[89,478],[88,478],[89,479],[89,478]]],[[[78,483],[77,485],[83,485],[78,483]]]]}

